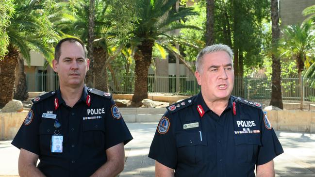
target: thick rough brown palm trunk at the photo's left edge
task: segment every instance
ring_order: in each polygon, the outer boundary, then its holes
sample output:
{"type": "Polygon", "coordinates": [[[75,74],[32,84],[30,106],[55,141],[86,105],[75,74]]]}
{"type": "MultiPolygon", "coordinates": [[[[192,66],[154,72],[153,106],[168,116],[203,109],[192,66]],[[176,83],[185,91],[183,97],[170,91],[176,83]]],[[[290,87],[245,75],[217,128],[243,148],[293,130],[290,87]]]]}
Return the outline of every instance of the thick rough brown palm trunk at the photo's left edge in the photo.
{"type": "Polygon", "coordinates": [[[18,50],[9,45],[8,54],[0,61],[0,107],[13,99],[18,50]]]}

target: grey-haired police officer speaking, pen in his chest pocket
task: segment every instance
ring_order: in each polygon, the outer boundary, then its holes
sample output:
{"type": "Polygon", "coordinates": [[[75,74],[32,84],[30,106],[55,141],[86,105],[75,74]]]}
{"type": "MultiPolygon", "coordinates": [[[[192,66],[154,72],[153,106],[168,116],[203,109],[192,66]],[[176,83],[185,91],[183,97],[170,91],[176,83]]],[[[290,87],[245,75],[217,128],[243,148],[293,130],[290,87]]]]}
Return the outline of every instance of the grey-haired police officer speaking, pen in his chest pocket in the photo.
{"type": "Polygon", "coordinates": [[[282,146],[261,104],[231,96],[232,50],[203,48],[196,61],[198,95],[169,106],[149,157],[156,177],[274,177],[282,146]]]}

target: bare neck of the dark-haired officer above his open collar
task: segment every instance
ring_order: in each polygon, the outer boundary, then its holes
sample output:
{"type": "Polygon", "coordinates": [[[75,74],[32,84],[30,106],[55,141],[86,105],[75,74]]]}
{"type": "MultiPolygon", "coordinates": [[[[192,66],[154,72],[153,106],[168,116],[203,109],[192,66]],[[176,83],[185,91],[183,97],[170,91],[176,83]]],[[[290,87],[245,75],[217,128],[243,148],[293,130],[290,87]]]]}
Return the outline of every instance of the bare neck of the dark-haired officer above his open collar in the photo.
{"type": "Polygon", "coordinates": [[[84,84],[79,87],[66,87],[60,85],[61,97],[71,108],[78,102],[82,96],[84,84]]]}

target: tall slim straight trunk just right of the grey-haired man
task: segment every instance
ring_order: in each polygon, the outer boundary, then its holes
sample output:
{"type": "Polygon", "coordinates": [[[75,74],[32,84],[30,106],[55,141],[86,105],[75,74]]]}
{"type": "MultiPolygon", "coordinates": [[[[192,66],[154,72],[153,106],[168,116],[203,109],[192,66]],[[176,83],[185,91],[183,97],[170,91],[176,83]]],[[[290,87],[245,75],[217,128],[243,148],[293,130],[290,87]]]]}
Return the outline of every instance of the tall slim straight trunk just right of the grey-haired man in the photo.
{"type": "Polygon", "coordinates": [[[278,39],[280,37],[278,0],[271,0],[272,21],[272,87],[270,104],[283,109],[281,89],[281,63],[278,54],[278,39]]]}

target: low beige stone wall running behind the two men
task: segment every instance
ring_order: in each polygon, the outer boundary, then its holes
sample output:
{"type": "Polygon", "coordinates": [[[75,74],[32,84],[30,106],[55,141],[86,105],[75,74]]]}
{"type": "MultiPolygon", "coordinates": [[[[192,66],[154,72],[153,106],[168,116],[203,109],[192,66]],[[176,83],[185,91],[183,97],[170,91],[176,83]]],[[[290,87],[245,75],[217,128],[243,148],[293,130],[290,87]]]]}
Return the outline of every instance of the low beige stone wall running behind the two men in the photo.
{"type": "MultiPolygon", "coordinates": [[[[126,122],[158,122],[165,108],[119,108],[126,122]]],[[[0,140],[13,139],[27,112],[0,113],[0,140]]],[[[315,133],[315,111],[267,111],[273,129],[315,133]]]]}

